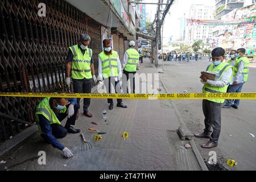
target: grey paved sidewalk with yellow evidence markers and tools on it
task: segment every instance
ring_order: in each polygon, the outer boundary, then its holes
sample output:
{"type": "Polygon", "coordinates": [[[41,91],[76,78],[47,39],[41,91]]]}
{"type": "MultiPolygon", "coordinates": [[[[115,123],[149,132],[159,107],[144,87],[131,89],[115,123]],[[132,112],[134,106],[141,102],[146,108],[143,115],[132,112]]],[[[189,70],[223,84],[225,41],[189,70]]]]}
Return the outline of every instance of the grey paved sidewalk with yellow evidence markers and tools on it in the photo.
{"type": "MultiPolygon", "coordinates": [[[[141,64],[139,72],[157,73],[158,70],[152,68],[146,59],[141,64]]],[[[152,83],[150,80],[142,81],[142,85],[146,84],[152,83]]],[[[159,87],[164,90],[162,85],[159,87]]],[[[180,123],[170,101],[124,100],[123,103],[128,106],[127,109],[116,107],[116,102],[114,101],[114,109],[110,111],[106,100],[92,100],[90,111],[93,113],[93,118],[82,115],[80,109],[76,127],[81,129],[86,140],[92,143],[92,150],[81,152],[80,135],[68,134],[60,141],[64,146],[71,148],[76,156],[64,159],[61,151],[44,143],[37,134],[29,143],[11,154],[7,163],[0,165],[0,169],[3,169],[3,166],[14,166],[10,170],[58,171],[201,169],[192,149],[184,148],[184,144],[189,142],[181,141],[176,133],[180,123]],[[104,109],[108,112],[107,122],[102,118],[104,109]],[[93,125],[92,121],[98,122],[99,125],[93,125]],[[94,142],[93,137],[97,133],[89,131],[88,127],[105,130],[108,133],[103,134],[100,141],[94,142]],[[124,131],[130,134],[125,141],[122,138],[124,131]],[[37,157],[39,151],[46,151],[46,165],[40,166],[37,159],[27,161],[27,159],[37,157]]]]}

